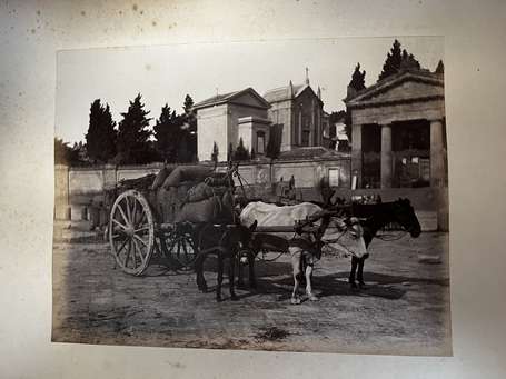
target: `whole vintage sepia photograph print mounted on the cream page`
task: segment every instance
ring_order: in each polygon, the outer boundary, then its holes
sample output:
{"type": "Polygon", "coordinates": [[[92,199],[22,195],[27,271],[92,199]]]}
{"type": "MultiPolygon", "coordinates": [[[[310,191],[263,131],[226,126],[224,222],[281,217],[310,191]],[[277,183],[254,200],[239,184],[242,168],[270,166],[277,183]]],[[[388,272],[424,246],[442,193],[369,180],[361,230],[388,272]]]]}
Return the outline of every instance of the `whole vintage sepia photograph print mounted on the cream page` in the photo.
{"type": "Polygon", "coordinates": [[[52,341],[452,356],[444,38],[62,50],[52,341]]]}

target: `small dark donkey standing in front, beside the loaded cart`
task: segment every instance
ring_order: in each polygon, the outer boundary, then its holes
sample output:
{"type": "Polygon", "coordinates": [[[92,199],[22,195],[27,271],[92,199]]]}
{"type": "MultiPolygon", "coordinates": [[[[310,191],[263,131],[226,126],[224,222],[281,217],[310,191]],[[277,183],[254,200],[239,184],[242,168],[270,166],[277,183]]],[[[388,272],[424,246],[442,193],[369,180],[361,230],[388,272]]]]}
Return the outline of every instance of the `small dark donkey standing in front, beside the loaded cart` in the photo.
{"type": "MultiPolygon", "coordinates": [[[[204,262],[209,255],[216,255],[218,258],[218,285],[216,287],[216,300],[221,300],[221,283],[224,281],[225,260],[229,260],[228,282],[230,289],[230,299],[237,300],[235,292],[235,267],[238,263],[239,250],[248,246],[252,238],[252,232],[257,227],[254,222],[249,228],[236,225],[205,225],[199,232],[198,250],[199,255],[195,261],[195,271],[197,273],[197,286],[202,292],[207,292],[207,283],[204,278],[204,262]]],[[[254,270],[252,261],[255,256],[248,255],[250,271],[254,270]]],[[[250,272],[250,278],[254,278],[250,272]]]]}

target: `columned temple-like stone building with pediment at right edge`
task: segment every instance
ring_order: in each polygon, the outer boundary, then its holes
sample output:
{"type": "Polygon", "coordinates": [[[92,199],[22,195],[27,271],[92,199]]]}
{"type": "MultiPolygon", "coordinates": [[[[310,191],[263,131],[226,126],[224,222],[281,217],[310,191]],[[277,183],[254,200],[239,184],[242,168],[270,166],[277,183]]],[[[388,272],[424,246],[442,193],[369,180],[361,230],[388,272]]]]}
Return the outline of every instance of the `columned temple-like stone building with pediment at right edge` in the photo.
{"type": "Polygon", "coordinates": [[[356,188],[447,186],[443,73],[401,70],[344,101],[356,188]]]}

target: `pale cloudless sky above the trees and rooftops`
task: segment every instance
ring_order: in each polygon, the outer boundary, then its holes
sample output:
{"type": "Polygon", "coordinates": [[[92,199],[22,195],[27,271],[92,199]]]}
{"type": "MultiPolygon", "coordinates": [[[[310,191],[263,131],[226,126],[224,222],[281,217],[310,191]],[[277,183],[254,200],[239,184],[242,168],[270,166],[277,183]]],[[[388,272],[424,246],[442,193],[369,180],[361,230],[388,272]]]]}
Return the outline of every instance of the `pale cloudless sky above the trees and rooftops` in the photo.
{"type": "Polygon", "coordinates": [[[302,83],[321,88],[327,112],[345,109],[343,99],[357,62],[374,84],[397,38],[423,68],[444,60],[443,37],[305,39],[228,43],[191,43],[88,50],[62,50],[57,59],[56,136],[85,141],[90,106],[108,103],[119,122],[137,93],[150,110],[151,127],[168,103],[182,112],[188,93],[199,102],[216,93],[252,87],[258,93],[302,83]]]}

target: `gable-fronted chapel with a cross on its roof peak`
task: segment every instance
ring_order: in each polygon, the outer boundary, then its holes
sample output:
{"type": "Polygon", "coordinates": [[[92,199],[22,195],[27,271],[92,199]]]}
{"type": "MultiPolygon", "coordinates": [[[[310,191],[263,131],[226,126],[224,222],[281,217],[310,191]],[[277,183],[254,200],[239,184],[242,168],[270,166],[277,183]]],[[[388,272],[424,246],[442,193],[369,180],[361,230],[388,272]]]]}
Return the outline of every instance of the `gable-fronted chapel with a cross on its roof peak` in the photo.
{"type": "Polygon", "coordinates": [[[264,94],[270,104],[268,118],[274,124],[282,124],[281,151],[300,147],[323,146],[324,102],[306,78],[304,84],[276,88],[264,94]]]}

